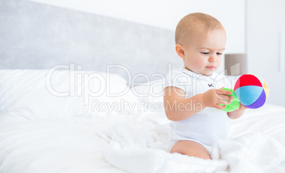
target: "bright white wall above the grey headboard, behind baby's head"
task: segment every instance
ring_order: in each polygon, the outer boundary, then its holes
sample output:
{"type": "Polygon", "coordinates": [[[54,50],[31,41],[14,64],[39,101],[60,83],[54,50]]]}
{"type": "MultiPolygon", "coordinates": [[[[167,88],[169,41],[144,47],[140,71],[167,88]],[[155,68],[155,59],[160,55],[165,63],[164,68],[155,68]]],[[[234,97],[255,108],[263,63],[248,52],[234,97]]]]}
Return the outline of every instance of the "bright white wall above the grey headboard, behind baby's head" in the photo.
{"type": "Polygon", "coordinates": [[[223,23],[228,34],[226,52],[245,52],[245,1],[239,0],[32,0],[97,13],[113,18],[175,30],[179,20],[192,12],[208,13],[223,23]]]}

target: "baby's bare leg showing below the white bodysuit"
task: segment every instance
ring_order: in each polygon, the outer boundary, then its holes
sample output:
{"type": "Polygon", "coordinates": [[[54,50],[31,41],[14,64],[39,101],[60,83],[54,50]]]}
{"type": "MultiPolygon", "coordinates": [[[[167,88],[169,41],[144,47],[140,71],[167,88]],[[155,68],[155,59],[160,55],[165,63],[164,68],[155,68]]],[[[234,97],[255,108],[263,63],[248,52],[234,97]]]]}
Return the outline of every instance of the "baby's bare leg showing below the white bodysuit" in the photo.
{"type": "Polygon", "coordinates": [[[211,160],[210,154],[203,145],[189,140],[178,141],[173,145],[170,152],[179,152],[182,155],[189,155],[199,157],[204,160],[211,160]]]}

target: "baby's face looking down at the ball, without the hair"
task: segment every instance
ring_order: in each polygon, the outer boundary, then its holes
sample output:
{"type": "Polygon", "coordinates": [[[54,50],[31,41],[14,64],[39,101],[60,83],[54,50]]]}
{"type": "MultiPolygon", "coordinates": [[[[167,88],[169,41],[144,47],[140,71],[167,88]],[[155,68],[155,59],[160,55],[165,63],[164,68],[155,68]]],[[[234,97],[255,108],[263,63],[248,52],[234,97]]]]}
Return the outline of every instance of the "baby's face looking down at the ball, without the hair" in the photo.
{"type": "Polygon", "coordinates": [[[225,30],[197,31],[184,47],[184,65],[197,74],[211,76],[222,62],[225,50],[225,30]]]}

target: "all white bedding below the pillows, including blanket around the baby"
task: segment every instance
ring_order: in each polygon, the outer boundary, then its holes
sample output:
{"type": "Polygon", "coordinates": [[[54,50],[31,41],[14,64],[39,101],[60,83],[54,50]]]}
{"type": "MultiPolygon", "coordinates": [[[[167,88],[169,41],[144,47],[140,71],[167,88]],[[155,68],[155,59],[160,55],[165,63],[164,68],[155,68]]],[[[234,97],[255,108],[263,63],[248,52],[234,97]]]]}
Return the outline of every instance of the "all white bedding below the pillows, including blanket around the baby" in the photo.
{"type": "Polygon", "coordinates": [[[167,152],[162,112],[28,120],[0,117],[0,172],[266,172],[285,169],[285,108],[266,106],[234,120],[213,160],[167,152]],[[276,142],[278,141],[278,142],[276,142]]]}

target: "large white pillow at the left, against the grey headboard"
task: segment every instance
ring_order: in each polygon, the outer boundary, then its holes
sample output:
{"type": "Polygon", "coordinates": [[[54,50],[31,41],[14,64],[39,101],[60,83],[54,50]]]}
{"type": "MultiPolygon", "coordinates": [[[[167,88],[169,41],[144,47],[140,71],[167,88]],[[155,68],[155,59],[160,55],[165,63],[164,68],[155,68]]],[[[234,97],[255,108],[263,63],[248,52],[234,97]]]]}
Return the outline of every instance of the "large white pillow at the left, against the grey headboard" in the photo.
{"type": "Polygon", "coordinates": [[[138,99],[118,74],[54,69],[1,69],[1,116],[66,118],[134,113],[138,99]],[[107,81],[108,80],[108,81],[107,81]],[[132,112],[131,112],[132,111],[132,112]]]}

